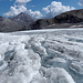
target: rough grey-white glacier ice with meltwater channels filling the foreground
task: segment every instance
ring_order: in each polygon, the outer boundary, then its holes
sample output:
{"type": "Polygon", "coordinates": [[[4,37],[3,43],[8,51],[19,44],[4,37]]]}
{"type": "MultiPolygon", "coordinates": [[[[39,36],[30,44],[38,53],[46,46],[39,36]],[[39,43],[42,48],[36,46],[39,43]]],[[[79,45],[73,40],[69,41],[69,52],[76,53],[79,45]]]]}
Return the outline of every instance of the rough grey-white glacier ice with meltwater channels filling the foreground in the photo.
{"type": "Polygon", "coordinates": [[[83,83],[83,29],[0,33],[0,83],[83,83]]]}

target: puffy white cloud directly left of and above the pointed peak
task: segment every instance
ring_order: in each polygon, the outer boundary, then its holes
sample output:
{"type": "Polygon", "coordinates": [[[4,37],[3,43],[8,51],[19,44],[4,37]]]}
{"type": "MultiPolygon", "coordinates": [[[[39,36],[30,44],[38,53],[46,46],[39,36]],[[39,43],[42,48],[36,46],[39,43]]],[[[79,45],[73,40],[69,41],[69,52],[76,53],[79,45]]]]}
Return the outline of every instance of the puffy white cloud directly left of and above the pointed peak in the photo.
{"type": "Polygon", "coordinates": [[[4,13],[3,15],[6,17],[15,17],[21,12],[25,12],[27,8],[24,6],[14,6],[14,7],[10,7],[9,12],[4,13]]]}

